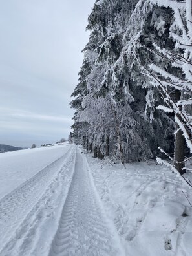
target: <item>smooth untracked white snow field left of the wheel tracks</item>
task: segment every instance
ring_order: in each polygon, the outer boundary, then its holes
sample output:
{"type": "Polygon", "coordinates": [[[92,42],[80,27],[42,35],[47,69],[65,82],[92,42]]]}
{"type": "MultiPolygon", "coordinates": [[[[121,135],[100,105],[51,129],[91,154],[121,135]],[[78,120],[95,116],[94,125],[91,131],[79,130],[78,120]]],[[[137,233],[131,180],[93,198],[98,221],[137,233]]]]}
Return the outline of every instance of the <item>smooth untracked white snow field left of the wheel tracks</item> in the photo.
{"type": "MultiPolygon", "coordinates": [[[[69,145],[68,145],[69,146],[69,145]]],[[[39,147],[0,154],[0,198],[54,162],[68,147],[39,147]]]]}

